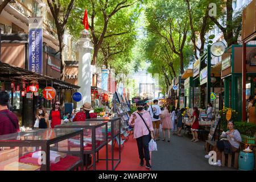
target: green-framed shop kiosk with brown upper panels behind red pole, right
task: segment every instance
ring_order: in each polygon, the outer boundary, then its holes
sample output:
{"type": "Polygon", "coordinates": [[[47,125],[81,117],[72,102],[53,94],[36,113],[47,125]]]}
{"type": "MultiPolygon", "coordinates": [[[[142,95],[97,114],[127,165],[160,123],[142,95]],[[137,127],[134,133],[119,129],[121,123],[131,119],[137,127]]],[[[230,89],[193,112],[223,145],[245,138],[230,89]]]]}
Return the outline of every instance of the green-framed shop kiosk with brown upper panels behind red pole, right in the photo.
{"type": "MultiPolygon", "coordinates": [[[[256,45],[246,46],[246,100],[256,94],[256,45]]],[[[222,80],[224,80],[224,106],[242,110],[242,46],[233,45],[222,55],[222,80]]],[[[242,113],[238,112],[238,119],[242,113]]]]}

